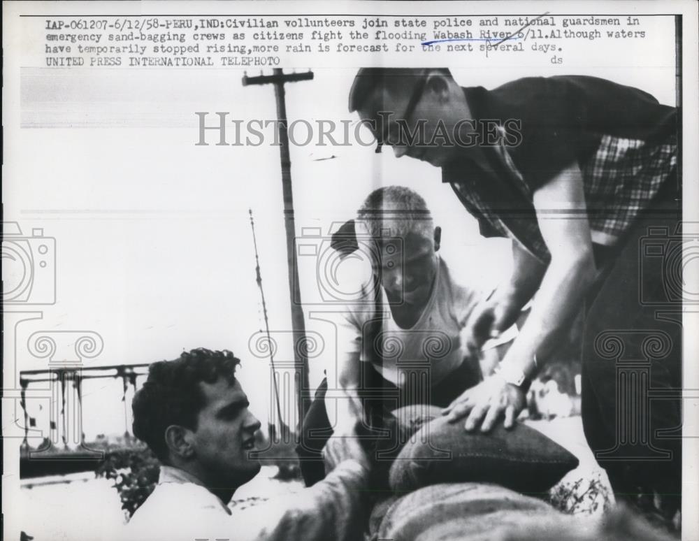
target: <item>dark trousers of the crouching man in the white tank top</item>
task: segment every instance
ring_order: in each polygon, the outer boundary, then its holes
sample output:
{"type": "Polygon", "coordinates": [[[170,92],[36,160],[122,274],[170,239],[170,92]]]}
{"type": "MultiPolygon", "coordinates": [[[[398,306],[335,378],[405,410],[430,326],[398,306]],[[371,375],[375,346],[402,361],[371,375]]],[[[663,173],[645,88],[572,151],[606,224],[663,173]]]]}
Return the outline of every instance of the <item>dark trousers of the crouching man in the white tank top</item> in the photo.
{"type": "MultiPolygon", "coordinates": [[[[427,402],[431,405],[446,407],[454,398],[481,380],[480,368],[464,361],[453,373],[447,375],[428,393],[406,393],[373,368],[371,363],[361,363],[362,382],[359,397],[365,413],[365,425],[358,433],[369,456],[387,458],[400,451],[396,442],[398,428],[391,410],[397,407],[427,402]]],[[[325,409],[325,395],[328,389],[326,379],[322,381],[315,397],[306,410],[301,426],[301,441],[296,453],[301,464],[301,473],[307,486],[317,483],[325,477],[322,450],[333,435],[333,427],[325,409]]]]}

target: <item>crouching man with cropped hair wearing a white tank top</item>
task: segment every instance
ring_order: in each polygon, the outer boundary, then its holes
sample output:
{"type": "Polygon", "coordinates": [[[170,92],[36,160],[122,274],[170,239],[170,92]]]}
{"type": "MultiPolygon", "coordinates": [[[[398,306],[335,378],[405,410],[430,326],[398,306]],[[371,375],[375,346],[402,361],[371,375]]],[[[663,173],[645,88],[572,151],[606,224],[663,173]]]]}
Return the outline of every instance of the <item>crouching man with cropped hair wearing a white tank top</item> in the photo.
{"type": "Polygon", "coordinates": [[[441,229],[424,199],[406,187],[377,189],[357,226],[354,250],[370,254],[375,280],[357,287],[356,302],[338,316],[337,373],[329,379],[340,388],[326,393],[324,381],[303,422],[297,452],[309,485],[324,475],[320,451],[330,434],[353,433],[360,417],[375,413],[369,407],[378,403],[380,414],[404,405],[446,407],[482,379],[479,359],[461,340],[481,296],[457,283],[438,255],[441,229]],[[371,402],[370,387],[381,389],[371,402]]]}

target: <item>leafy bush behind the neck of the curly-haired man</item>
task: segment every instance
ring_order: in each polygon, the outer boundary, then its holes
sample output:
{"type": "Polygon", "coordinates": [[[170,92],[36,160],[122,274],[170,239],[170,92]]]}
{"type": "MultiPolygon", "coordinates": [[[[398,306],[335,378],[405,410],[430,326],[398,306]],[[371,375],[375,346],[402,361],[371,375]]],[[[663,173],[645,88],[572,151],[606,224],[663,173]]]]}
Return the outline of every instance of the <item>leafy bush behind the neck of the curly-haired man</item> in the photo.
{"type": "Polygon", "coordinates": [[[155,488],[160,463],[145,446],[115,449],[106,454],[95,473],[98,477],[114,480],[122,509],[131,517],[155,488]]]}

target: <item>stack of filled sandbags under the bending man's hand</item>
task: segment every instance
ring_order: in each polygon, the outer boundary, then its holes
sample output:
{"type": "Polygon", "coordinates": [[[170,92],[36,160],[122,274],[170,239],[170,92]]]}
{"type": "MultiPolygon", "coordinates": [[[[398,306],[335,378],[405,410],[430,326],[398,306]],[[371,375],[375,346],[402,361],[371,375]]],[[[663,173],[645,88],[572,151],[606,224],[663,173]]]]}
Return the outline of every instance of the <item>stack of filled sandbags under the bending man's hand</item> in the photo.
{"type": "Polygon", "coordinates": [[[392,495],[373,507],[373,540],[667,539],[625,510],[583,521],[540,499],[578,461],[534,428],[467,433],[463,422],[449,424],[426,405],[396,410],[394,421],[402,440],[383,445],[392,495]]]}

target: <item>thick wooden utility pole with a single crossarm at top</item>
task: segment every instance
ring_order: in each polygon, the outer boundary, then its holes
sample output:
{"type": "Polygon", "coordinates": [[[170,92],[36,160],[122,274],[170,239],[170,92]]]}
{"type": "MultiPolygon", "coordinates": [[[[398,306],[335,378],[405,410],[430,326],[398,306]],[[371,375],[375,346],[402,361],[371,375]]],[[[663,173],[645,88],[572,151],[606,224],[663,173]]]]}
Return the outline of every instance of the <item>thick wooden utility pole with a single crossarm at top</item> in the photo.
{"type": "MultiPolygon", "coordinates": [[[[243,86],[274,85],[277,100],[277,131],[279,136],[279,154],[282,162],[282,196],[284,198],[284,227],[287,232],[287,266],[289,271],[289,298],[291,299],[291,330],[294,337],[294,363],[296,365],[296,407],[298,407],[299,426],[303,421],[303,394],[308,391],[308,355],[305,351],[305,321],[301,306],[301,289],[298,286],[298,267],[296,265],[296,226],[294,222],[294,195],[291,190],[291,158],[289,157],[289,135],[287,132],[287,104],[284,99],[284,83],[308,81],[313,78],[312,71],[303,73],[284,73],[281,68],[274,68],[272,75],[243,76],[243,86]]],[[[282,419],[280,419],[282,421],[282,419]]]]}

